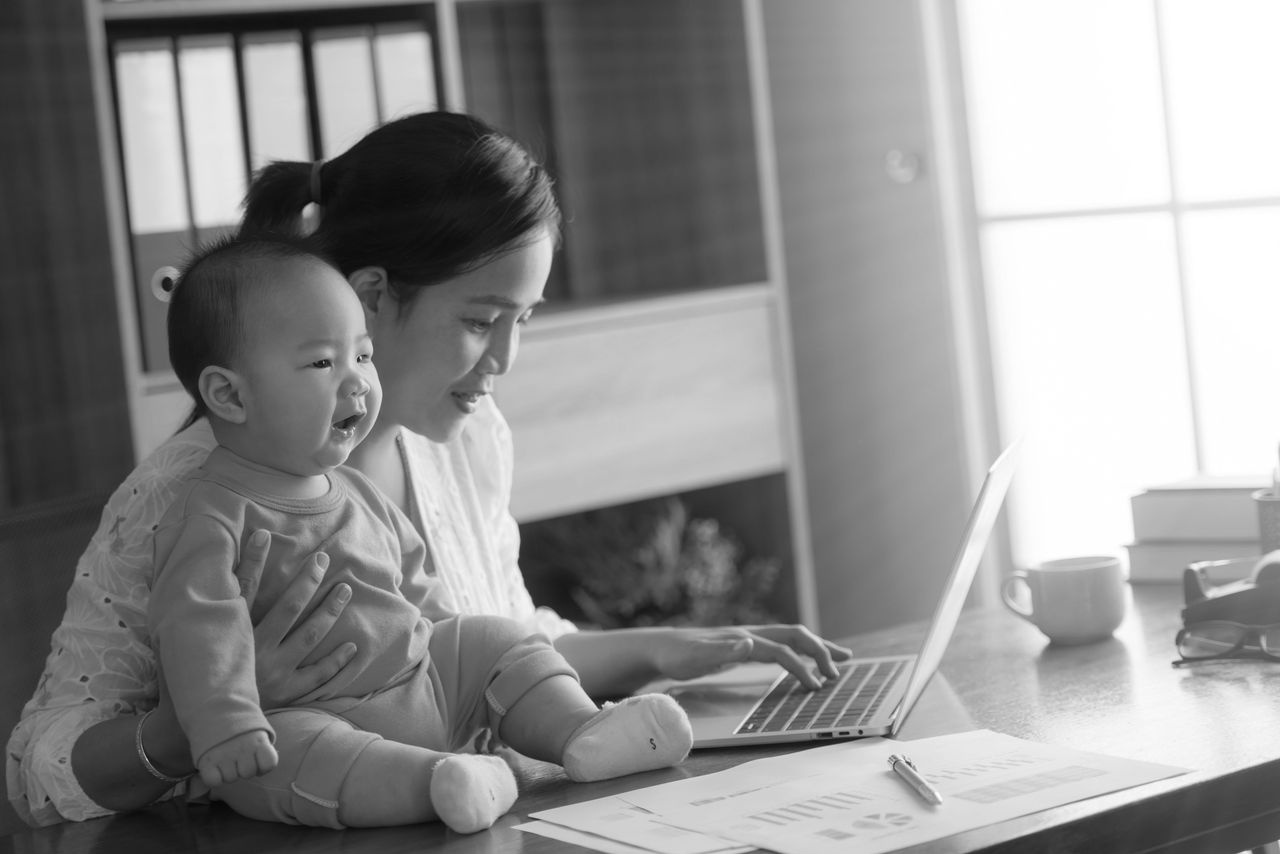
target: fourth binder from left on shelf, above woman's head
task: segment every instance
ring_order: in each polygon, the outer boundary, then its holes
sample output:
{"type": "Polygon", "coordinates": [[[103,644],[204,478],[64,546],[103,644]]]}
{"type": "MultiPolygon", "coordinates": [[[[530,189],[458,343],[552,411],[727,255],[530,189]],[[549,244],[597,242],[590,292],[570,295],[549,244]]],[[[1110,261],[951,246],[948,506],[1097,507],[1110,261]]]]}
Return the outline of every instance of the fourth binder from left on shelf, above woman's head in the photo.
{"type": "Polygon", "coordinates": [[[342,154],[378,124],[370,27],[316,29],[311,41],[320,154],[342,154]]]}

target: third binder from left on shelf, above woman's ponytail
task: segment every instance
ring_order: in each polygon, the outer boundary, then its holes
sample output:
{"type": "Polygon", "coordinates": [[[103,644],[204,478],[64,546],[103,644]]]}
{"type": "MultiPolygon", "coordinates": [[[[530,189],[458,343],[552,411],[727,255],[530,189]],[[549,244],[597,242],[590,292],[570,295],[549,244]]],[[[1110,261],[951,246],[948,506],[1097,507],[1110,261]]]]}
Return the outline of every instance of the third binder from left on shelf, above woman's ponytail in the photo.
{"type": "Polygon", "coordinates": [[[314,160],[302,33],[244,33],[241,65],[250,169],[257,172],[273,160],[314,160]]]}

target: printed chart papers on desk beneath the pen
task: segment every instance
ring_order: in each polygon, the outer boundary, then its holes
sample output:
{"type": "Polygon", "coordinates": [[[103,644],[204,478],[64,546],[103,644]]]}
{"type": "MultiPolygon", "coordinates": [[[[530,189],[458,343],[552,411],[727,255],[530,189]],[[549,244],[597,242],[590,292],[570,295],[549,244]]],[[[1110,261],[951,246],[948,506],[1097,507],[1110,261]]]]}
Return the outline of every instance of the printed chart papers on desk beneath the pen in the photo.
{"type": "MultiPolygon", "coordinates": [[[[854,846],[878,854],[1185,771],[989,730],[916,741],[865,739],[532,813],[538,821],[520,827],[536,832],[545,822],[561,834],[577,831],[663,854],[742,845],[782,854],[854,846]],[[895,753],[910,757],[941,804],[928,804],[891,771],[895,753]],[[672,836],[672,830],[682,835],[672,836]]],[[[589,839],[572,841],[594,848],[589,839]]]]}

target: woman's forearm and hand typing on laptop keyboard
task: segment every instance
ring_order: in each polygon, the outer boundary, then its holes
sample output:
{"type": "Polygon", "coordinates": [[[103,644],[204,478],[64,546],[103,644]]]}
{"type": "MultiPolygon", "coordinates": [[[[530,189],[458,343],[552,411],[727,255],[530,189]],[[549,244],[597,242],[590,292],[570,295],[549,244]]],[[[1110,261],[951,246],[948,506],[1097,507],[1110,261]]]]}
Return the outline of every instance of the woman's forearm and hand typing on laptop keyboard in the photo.
{"type": "Polygon", "coordinates": [[[654,679],[694,679],[746,661],[776,662],[809,688],[852,653],[804,626],[612,629],[556,639],[556,649],[595,698],[631,694],[654,679]]]}

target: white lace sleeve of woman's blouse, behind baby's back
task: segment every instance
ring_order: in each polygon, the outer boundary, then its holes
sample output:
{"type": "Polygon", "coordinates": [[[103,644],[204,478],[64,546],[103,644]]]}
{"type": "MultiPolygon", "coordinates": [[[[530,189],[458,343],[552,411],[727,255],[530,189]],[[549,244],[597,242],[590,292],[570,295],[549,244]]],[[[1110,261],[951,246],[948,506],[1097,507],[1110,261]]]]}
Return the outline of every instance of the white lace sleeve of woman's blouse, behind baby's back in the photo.
{"type": "Polygon", "coordinates": [[[72,771],[77,739],[105,720],[156,703],[156,661],[146,627],[152,531],[178,484],[212,447],[207,424],[174,437],[115,490],[76,566],[45,671],[5,752],[15,812],[32,825],[108,814],[72,771]]]}

